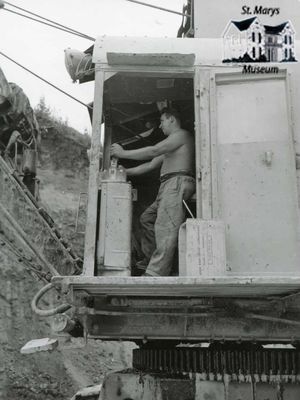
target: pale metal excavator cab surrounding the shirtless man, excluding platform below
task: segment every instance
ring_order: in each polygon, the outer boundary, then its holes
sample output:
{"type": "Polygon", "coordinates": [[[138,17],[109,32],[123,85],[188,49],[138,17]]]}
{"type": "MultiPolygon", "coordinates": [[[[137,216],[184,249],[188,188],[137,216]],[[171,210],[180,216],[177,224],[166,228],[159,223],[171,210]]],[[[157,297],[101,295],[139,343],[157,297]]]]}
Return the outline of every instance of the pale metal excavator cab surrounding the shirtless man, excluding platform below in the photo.
{"type": "Polygon", "coordinates": [[[138,162],[113,164],[110,148],[112,143],[134,149],[161,141],[159,118],[165,106],[176,108],[183,128],[193,132],[196,166],[196,193],[185,205],[188,218],[179,230],[171,275],[229,283],[236,276],[255,276],[273,282],[273,276],[297,272],[297,179],[290,163],[287,71],[249,79],[238,67],[202,65],[202,58],[212,57],[205,49],[200,39],[99,39],[93,53],[84,275],[131,277],[132,266],[143,257],[139,217],[156,196],[159,171],[129,181],[124,167],[138,162]],[[281,212],[283,205],[288,216],[281,212]],[[284,245],[273,245],[279,242],[284,245]]]}

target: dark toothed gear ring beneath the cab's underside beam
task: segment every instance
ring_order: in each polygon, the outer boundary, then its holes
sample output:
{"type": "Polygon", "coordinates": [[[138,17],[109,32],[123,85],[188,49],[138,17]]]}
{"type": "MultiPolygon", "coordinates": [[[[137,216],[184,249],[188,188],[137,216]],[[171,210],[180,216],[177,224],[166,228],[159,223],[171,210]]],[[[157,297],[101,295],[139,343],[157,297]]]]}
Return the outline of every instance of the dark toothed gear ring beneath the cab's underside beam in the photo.
{"type": "Polygon", "coordinates": [[[135,349],[133,367],[171,374],[199,373],[203,380],[229,375],[240,382],[300,382],[300,351],[294,349],[135,349]]]}

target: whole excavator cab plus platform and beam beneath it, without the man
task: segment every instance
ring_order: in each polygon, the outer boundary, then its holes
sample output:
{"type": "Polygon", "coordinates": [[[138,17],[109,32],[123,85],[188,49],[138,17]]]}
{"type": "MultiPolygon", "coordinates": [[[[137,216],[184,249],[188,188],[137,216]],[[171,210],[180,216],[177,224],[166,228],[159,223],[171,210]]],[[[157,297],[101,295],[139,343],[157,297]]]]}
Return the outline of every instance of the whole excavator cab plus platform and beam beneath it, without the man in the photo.
{"type": "Polygon", "coordinates": [[[217,53],[201,39],[95,43],[84,266],[80,276],[52,279],[86,336],[143,344],[299,340],[294,317],[286,327],[270,302],[299,292],[289,107],[298,100],[291,99],[286,69],[248,76],[240,66],[216,65],[217,53]],[[159,171],[128,179],[124,167],[135,164],[116,164],[110,148],[162,140],[165,105],[177,108],[194,133],[196,193],[172,276],[137,277],[131,271],[142,258],[139,216],[156,196],[159,171]]]}

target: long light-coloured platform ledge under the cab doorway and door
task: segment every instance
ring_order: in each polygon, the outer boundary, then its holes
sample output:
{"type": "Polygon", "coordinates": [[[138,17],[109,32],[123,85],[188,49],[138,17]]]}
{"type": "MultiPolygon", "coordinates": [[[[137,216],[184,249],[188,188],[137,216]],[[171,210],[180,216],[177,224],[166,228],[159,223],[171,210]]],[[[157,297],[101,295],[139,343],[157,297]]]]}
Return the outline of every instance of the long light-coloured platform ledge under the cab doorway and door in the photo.
{"type": "Polygon", "coordinates": [[[55,285],[71,285],[89,294],[133,296],[263,297],[299,292],[300,277],[54,277],[55,285]]]}

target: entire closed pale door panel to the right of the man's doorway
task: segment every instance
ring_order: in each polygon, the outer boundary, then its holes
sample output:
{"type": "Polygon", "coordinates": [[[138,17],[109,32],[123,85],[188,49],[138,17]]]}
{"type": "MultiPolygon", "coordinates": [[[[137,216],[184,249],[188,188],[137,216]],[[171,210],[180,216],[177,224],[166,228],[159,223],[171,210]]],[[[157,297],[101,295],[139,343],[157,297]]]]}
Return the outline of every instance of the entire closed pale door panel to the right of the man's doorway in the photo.
{"type": "Polygon", "coordinates": [[[217,84],[216,94],[218,192],[231,273],[298,273],[296,171],[285,80],[247,82],[241,76],[217,84]]]}

